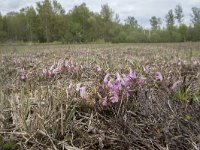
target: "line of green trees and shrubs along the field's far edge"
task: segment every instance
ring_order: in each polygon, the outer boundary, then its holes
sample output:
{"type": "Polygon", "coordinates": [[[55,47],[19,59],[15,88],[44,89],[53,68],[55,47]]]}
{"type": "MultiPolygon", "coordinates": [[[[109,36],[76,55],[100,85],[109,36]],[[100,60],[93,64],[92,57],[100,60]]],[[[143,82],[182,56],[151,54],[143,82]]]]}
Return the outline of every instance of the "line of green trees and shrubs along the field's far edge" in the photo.
{"type": "Polygon", "coordinates": [[[184,23],[181,5],[170,9],[164,18],[152,16],[151,29],[138,24],[134,16],[122,23],[108,4],[99,13],[85,3],[68,13],[56,0],[36,3],[19,12],[0,13],[0,42],[184,42],[200,41],[200,8],[191,8],[191,24],[184,23]],[[166,26],[162,26],[162,24],[166,26]]]}

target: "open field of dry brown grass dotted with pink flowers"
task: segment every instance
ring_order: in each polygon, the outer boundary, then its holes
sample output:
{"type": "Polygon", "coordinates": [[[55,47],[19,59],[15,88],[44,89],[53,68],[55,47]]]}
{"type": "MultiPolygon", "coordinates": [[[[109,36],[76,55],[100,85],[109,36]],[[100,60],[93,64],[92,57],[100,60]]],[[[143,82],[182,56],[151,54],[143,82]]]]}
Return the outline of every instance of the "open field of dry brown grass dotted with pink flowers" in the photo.
{"type": "Polygon", "coordinates": [[[0,46],[1,149],[200,149],[200,43],[0,46]]]}

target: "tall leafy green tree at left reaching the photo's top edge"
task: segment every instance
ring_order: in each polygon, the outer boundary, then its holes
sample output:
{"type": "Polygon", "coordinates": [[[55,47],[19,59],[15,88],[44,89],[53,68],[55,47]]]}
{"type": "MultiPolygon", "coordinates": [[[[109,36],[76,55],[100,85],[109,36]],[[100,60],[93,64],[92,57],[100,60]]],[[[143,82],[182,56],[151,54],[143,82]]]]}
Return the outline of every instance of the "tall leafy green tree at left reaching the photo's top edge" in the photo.
{"type": "Polygon", "coordinates": [[[38,35],[40,41],[61,40],[64,36],[65,10],[56,0],[37,2],[38,35]]]}

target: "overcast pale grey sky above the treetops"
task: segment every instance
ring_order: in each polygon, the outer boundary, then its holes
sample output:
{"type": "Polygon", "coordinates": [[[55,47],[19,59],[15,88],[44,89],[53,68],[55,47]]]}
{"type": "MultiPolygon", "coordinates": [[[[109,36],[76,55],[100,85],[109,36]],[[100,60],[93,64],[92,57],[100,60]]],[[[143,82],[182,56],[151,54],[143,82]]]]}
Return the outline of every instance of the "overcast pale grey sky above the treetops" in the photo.
{"type": "MultiPolygon", "coordinates": [[[[5,15],[9,11],[19,11],[26,6],[34,6],[40,0],[0,0],[0,12],[5,15]]],[[[99,12],[103,4],[108,4],[112,10],[124,21],[127,16],[134,16],[138,23],[146,28],[149,25],[149,19],[152,16],[162,18],[164,22],[165,15],[169,9],[174,9],[177,4],[183,8],[185,22],[190,23],[190,14],[192,7],[200,7],[200,0],[57,0],[65,8],[66,12],[75,5],[85,2],[90,10],[99,12]]]]}

